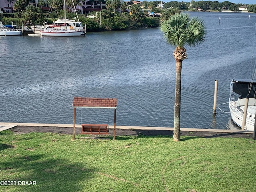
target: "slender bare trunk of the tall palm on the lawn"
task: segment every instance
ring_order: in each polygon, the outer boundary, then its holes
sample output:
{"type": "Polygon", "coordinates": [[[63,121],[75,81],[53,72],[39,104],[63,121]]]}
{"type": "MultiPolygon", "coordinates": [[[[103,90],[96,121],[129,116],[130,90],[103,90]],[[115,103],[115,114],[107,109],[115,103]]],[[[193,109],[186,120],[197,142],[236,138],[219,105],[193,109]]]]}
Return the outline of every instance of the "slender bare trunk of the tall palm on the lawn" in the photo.
{"type": "Polygon", "coordinates": [[[181,67],[182,60],[176,61],[176,84],[174,100],[174,130],[173,140],[180,141],[180,92],[181,92],[181,67]]]}

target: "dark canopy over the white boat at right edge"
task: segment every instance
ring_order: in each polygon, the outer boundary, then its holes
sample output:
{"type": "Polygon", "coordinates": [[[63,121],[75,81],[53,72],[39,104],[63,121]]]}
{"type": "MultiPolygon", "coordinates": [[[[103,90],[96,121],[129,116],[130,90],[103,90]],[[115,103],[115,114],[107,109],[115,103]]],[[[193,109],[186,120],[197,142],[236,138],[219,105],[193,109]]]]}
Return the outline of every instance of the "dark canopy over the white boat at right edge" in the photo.
{"type": "Polygon", "coordinates": [[[256,82],[255,81],[232,79],[232,85],[233,85],[233,92],[242,96],[242,98],[245,98],[246,96],[256,98],[256,94],[255,94],[256,82]],[[249,93],[250,85],[251,85],[251,89],[249,93]]]}

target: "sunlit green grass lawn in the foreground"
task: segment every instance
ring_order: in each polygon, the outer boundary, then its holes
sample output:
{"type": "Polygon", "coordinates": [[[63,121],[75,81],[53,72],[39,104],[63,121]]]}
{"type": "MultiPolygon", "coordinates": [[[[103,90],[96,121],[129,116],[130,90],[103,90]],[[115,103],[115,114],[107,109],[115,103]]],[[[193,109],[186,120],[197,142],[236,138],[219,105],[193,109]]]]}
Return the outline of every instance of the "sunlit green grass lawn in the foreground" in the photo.
{"type": "Polygon", "coordinates": [[[80,136],[72,141],[66,134],[0,132],[0,181],[16,182],[0,191],[256,191],[252,139],[80,136]]]}

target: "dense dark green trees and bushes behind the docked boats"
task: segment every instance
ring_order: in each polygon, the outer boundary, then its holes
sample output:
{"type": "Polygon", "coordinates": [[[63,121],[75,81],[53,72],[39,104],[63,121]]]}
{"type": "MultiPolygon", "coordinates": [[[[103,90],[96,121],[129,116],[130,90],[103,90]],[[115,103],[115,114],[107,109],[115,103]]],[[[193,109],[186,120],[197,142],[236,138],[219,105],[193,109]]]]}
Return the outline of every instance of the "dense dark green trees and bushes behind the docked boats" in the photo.
{"type": "MultiPolygon", "coordinates": [[[[49,16],[42,14],[43,2],[43,0],[39,0],[40,7],[35,7],[30,5],[30,0],[18,0],[13,5],[15,12],[13,14],[0,14],[0,20],[3,24],[11,24],[13,21],[14,24],[21,26],[22,24],[43,24],[45,21],[51,24],[57,18],[64,17],[64,2],[62,0],[46,0],[51,9],[49,16]]],[[[67,0],[66,2],[67,6],[73,7],[70,5],[72,0],[67,0]]],[[[154,6],[152,6],[151,10],[153,8],[154,6]]],[[[154,11],[162,12],[162,18],[149,17],[148,13],[143,11],[137,4],[129,2],[121,4],[119,0],[107,0],[106,9],[98,12],[96,18],[86,18],[84,14],[79,14],[78,18],[80,22],[86,24],[87,31],[126,30],[158,27],[163,18],[168,18],[178,10],[166,9],[161,11],[155,8],[154,11]]],[[[91,14],[95,14],[95,12],[91,12],[91,14]]],[[[72,10],[66,14],[67,19],[74,19],[75,17],[76,14],[72,10]]]]}

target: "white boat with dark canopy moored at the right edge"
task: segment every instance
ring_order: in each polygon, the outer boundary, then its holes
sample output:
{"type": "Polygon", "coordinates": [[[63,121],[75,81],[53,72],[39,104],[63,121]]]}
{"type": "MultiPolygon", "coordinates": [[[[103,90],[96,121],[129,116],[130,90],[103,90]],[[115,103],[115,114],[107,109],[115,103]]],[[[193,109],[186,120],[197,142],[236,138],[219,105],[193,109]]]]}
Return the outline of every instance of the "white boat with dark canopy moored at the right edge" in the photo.
{"type": "Polygon", "coordinates": [[[256,113],[256,82],[251,80],[232,79],[230,83],[229,109],[233,122],[242,128],[244,110],[247,105],[244,130],[253,131],[256,113]]]}

